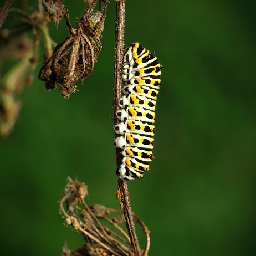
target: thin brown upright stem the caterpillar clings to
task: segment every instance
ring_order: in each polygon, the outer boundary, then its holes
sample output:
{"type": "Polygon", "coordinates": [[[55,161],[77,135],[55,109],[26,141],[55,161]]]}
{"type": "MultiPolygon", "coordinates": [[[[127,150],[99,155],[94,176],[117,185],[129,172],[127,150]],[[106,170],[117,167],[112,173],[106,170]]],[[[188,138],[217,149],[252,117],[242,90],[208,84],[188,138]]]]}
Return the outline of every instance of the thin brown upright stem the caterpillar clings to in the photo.
{"type": "MultiPolygon", "coordinates": [[[[114,112],[118,110],[118,100],[121,98],[121,64],[124,48],[124,21],[125,21],[125,0],[120,0],[116,3],[116,31],[115,31],[115,62],[114,62],[114,112]]],[[[119,122],[115,119],[115,125],[119,122]]],[[[121,149],[116,148],[116,165],[120,167],[122,163],[121,149]]],[[[135,256],[140,256],[139,244],[135,233],[134,221],[132,218],[131,205],[125,180],[118,180],[119,191],[121,194],[122,206],[126,227],[131,239],[131,246],[135,256]]]]}

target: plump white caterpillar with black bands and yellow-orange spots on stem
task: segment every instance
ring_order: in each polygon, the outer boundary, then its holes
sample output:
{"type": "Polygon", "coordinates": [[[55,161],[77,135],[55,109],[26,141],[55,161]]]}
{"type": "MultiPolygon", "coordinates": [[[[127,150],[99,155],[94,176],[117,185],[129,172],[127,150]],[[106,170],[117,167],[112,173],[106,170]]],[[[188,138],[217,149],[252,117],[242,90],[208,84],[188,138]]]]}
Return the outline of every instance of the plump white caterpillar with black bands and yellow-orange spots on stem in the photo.
{"type": "Polygon", "coordinates": [[[114,131],[120,134],[114,145],[120,147],[124,156],[116,175],[124,180],[142,178],[149,171],[153,159],[153,135],[155,132],[155,106],[161,85],[162,66],[154,52],[142,44],[132,43],[124,51],[122,64],[123,96],[119,99],[121,110],[116,117],[121,120],[114,131]]]}

